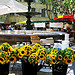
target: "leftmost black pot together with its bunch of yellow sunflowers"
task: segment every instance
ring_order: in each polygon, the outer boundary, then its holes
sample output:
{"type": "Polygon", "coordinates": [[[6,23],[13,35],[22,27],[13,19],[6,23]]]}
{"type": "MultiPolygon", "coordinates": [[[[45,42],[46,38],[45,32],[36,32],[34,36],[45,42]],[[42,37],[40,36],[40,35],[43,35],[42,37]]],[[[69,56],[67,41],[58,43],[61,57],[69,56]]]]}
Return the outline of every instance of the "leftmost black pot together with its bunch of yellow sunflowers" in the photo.
{"type": "Polygon", "coordinates": [[[9,62],[15,62],[14,49],[7,43],[0,45],[0,75],[9,74],[9,62]]]}

